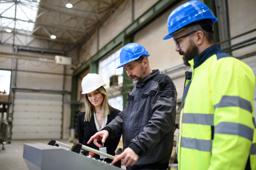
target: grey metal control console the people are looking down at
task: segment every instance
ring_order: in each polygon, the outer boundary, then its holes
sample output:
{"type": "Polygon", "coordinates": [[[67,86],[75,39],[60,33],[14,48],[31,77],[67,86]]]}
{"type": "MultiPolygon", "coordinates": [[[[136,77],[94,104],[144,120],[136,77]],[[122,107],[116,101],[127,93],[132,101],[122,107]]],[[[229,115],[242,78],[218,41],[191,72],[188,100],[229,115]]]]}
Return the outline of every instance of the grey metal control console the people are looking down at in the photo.
{"type": "Polygon", "coordinates": [[[24,144],[23,159],[29,170],[121,170],[119,167],[90,156],[80,155],[81,149],[110,159],[115,157],[91,147],[76,143],[73,147],[51,140],[48,144],[24,144]],[[67,147],[67,149],[58,147],[67,147]]]}

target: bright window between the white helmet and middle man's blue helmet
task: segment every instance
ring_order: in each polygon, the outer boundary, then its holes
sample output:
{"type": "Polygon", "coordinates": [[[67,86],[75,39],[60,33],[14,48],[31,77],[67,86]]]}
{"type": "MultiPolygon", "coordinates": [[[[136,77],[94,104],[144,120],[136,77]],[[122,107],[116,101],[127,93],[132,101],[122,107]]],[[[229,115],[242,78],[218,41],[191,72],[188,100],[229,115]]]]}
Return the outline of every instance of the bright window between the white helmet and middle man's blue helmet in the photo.
{"type": "Polygon", "coordinates": [[[120,65],[120,52],[121,49],[99,61],[99,75],[102,77],[104,82],[107,83],[106,88],[109,88],[109,78],[113,75],[119,75],[118,84],[122,84],[123,82],[123,68],[117,68],[120,65]]]}

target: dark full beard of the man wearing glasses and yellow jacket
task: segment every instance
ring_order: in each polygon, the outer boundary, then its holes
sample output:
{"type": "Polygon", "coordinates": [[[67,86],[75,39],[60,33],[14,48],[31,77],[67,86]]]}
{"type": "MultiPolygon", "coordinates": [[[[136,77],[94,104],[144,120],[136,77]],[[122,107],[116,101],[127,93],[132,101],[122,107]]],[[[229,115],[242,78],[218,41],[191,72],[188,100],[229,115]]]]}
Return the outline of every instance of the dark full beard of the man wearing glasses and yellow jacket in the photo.
{"type": "Polygon", "coordinates": [[[184,64],[187,66],[190,66],[189,61],[198,55],[198,48],[195,45],[195,43],[192,42],[192,40],[189,40],[189,43],[190,43],[190,45],[189,45],[189,48],[187,49],[186,53],[184,51],[179,51],[180,55],[184,55],[182,57],[182,59],[183,59],[184,64]]]}

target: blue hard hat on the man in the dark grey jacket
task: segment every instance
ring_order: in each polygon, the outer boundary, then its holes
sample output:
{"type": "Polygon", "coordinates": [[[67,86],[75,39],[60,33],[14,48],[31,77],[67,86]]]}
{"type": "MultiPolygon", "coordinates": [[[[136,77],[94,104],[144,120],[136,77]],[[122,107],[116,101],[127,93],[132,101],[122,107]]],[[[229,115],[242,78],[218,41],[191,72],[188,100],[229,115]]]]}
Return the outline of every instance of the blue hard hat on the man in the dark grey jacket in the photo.
{"type": "Polygon", "coordinates": [[[120,52],[120,65],[117,68],[120,68],[126,63],[134,61],[143,55],[149,56],[148,51],[146,51],[142,45],[138,43],[127,44],[120,52]]]}

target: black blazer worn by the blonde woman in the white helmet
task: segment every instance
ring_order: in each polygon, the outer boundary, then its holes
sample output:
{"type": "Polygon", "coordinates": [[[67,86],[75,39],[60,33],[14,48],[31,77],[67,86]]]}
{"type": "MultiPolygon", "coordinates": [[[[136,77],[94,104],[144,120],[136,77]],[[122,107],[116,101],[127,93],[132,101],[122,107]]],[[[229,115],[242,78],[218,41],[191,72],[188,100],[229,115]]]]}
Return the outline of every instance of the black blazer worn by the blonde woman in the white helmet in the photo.
{"type": "MultiPolygon", "coordinates": [[[[120,113],[118,109],[112,108],[113,111],[110,112],[108,115],[108,121],[107,125],[120,113]]],[[[97,147],[95,144],[93,144],[93,141],[90,142],[90,144],[87,144],[89,141],[90,137],[93,136],[95,133],[97,133],[96,125],[94,122],[94,116],[91,116],[90,122],[84,122],[84,112],[79,112],[77,116],[77,124],[76,124],[76,129],[77,129],[77,136],[79,143],[84,144],[85,146],[92,147],[96,150],[99,150],[99,147],[97,147]]],[[[110,155],[115,156],[115,150],[116,147],[120,141],[121,136],[117,136],[112,139],[108,139],[105,141],[104,146],[107,147],[107,153],[110,155]]],[[[98,142],[99,144],[102,144],[102,142],[98,142]]],[[[93,156],[96,159],[99,159],[99,155],[93,156]]],[[[105,161],[107,161],[105,159],[105,161]]],[[[110,160],[111,162],[112,160],[110,160]]]]}

